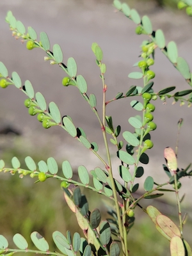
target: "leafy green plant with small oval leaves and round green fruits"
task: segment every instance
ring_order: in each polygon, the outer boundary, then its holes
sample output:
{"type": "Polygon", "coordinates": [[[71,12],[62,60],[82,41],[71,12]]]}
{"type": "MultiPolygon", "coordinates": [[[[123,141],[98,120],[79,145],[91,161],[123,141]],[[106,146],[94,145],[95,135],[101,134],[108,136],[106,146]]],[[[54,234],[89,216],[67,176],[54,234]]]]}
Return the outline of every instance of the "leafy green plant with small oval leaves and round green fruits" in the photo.
{"type": "MultiPolygon", "coordinates": [[[[113,99],[107,100],[107,92],[110,90],[110,85],[106,85],[105,73],[106,64],[102,62],[103,53],[97,43],[92,44],[92,51],[96,58],[96,64],[100,69],[101,87],[103,93],[102,112],[97,111],[97,96],[91,93],[87,94],[88,84],[86,79],[77,74],[77,63],[74,58],[68,58],[66,65],[63,63],[63,52],[60,45],[54,44],[51,47],[49,37],[45,32],[38,36],[35,29],[28,27],[26,30],[24,24],[15,19],[12,12],[8,12],[6,22],[10,26],[12,35],[26,42],[26,48],[30,51],[35,51],[35,48],[42,49],[46,56],[45,61],[50,61],[51,65],[58,65],[67,74],[61,79],[63,86],[75,86],[79,90],[79,94],[88,103],[92,109],[93,115],[96,115],[100,124],[100,132],[102,132],[104,147],[106,148],[107,161],[102,154],[99,153],[99,147],[96,142],[90,141],[81,127],[76,127],[70,116],[63,116],[61,118],[60,109],[54,102],[47,104],[44,96],[40,92],[34,92],[30,81],[25,81],[24,86],[17,72],[10,74],[2,62],[0,62],[0,86],[6,88],[7,86],[16,86],[22,93],[26,95],[24,106],[28,108],[29,115],[36,115],[38,122],[42,127],[49,129],[52,126],[60,126],[61,129],[68,132],[70,136],[78,140],[82,147],[92,151],[95,157],[100,160],[100,166],[95,167],[94,170],[87,170],[86,163],[78,167],[78,180],[73,177],[74,170],[67,160],[64,160],[61,166],[62,175],[58,175],[58,164],[53,157],[49,157],[47,161],[35,161],[30,157],[25,158],[27,169],[20,166],[20,161],[17,157],[12,159],[12,168],[7,168],[3,160],[0,161],[0,171],[10,172],[12,174],[19,173],[20,177],[29,175],[34,178],[36,182],[46,182],[49,179],[57,179],[58,186],[64,191],[64,197],[68,207],[76,215],[77,223],[83,230],[83,236],[78,232],[73,235],[70,231],[67,234],[61,234],[55,231],[52,234],[52,239],[56,244],[59,252],[52,252],[49,244],[36,231],[31,230],[31,240],[35,244],[37,250],[28,248],[28,242],[21,234],[13,236],[13,242],[17,248],[10,248],[8,240],[0,235],[0,254],[12,255],[15,252],[33,252],[45,255],[68,255],[75,256],[77,253],[84,256],[90,255],[131,255],[129,252],[129,232],[137,220],[134,216],[134,209],[140,207],[143,212],[148,214],[154,222],[157,230],[170,241],[171,255],[192,255],[191,248],[188,242],[184,239],[183,225],[186,223],[186,214],[183,214],[181,209],[181,202],[183,198],[179,197],[179,188],[181,186],[181,178],[192,175],[190,170],[191,164],[186,168],[179,169],[177,167],[177,150],[167,147],[164,149],[164,158],[166,164],[163,164],[165,175],[165,182],[159,184],[154,177],[148,176],[145,182],[136,182],[135,178],[140,178],[145,171],[142,164],[148,163],[147,152],[154,143],[151,138],[152,132],[156,130],[157,125],[154,121],[156,106],[154,101],[157,99],[166,102],[166,99],[173,99],[173,102],[180,102],[182,106],[185,102],[191,106],[191,88],[181,92],[175,91],[175,86],[164,88],[157,91],[154,87],[152,79],[156,76],[152,70],[154,65],[154,53],[157,48],[170,60],[170,65],[177,68],[181,76],[184,77],[186,83],[192,86],[192,76],[189,70],[188,63],[184,58],[178,55],[177,44],[169,42],[165,44],[163,31],[152,29],[150,19],[144,15],[142,18],[135,9],[129,8],[126,3],[120,3],[115,0],[113,2],[117,11],[124,13],[124,15],[136,24],[136,34],[148,35],[148,40],[141,42],[141,49],[138,49],[140,58],[138,63],[134,64],[135,72],[128,74],[130,79],[143,79],[143,86],[131,86],[127,92],[118,92],[113,99]],[[127,115],[129,124],[134,128],[134,132],[121,131],[120,125],[114,127],[112,116],[107,115],[108,104],[115,101],[131,97],[130,108],[136,111],[135,116],[127,115]],[[139,100],[138,100],[138,97],[139,100]],[[107,135],[108,134],[108,135],[107,135]],[[118,136],[122,134],[124,141],[119,140],[118,136]],[[111,164],[111,154],[109,151],[109,143],[116,148],[116,157],[119,159],[118,166],[119,179],[113,177],[114,170],[111,164]],[[170,184],[170,188],[166,189],[164,186],[170,184]],[[135,192],[140,186],[141,196],[135,197],[135,192]],[[81,193],[81,188],[91,189],[95,193],[106,196],[111,200],[113,207],[108,207],[109,218],[102,220],[99,209],[89,209],[86,196],[81,193]],[[175,198],[178,207],[179,225],[175,224],[170,218],[162,214],[153,205],[143,207],[141,200],[148,198],[158,198],[163,196],[164,191],[175,192],[175,198]]],[[[192,6],[192,1],[180,1],[178,4],[182,9],[186,6],[192,6]]],[[[187,8],[188,8],[187,7],[187,8]]],[[[186,9],[187,10],[187,9],[186,9]]],[[[189,11],[188,11],[189,12],[189,11]]],[[[187,12],[187,13],[188,13],[187,12]]],[[[188,13],[189,14],[189,13],[188,13]]],[[[142,40],[142,39],[141,39],[142,40]]],[[[137,53],[136,53],[137,54],[137,53]]],[[[63,90],[67,88],[63,87],[63,90]]],[[[129,113],[129,111],[127,111],[129,113]]],[[[182,125],[182,118],[178,122],[178,129],[182,125]]],[[[54,129],[54,127],[52,127],[54,129]]],[[[177,149],[177,147],[176,147],[177,149]]],[[[13,179],[13,178],[12,178],[13,179]]]]}

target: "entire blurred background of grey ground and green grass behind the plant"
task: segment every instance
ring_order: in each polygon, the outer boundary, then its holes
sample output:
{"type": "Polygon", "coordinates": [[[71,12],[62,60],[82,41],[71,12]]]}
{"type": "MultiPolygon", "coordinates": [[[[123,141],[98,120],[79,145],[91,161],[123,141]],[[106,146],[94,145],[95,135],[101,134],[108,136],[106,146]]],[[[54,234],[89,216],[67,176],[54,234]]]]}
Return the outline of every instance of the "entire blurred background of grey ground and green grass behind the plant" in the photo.
{"type": "MultiPolygon", "coordinates": [[[[58,66],[44,63],[44,52],[40,49],[28,51],[20,40],[15,41],[4,22],[6,12],[12,10],[17,20],[24,23],[26,28],[32,26],[39,34],[45,31],[49,35],[51,45],[60,44],[63,50],[63,61],[69,57],[75,58],[77,72],[82,74],[88,83],[88,93],[95,93],[98,111],[101,111],[102,84],[100,83],[99,68],[95,64],[95,56],[91,50],[93,42],[100,45],[106,63],[106,84],[108,85],[107,99],[112,99],[118,92],[127,92],[131,85],[140,85],[141,81],[128,79],[127,75],[136,70],[132,65],[140,55],[140,45],[147,36],[136,35],[136,25],[122,13],[116,13],[110,0],[6,0],[0,1],[0,31],[1,49],[0,61],[6,65],[10,74],[18,72],[22,82],[31,81],[35,92],[41,92],[47,102],[58,104],[61,115],[70,115],[74,124],[83,127],[90,141],[97,141],[99,152],[105,157],[102,134],[96,116],[82,99],[73,86],[64,88],[61,84],[65,73],[58,66]]],[[[191,58],[191,18],[184,11],[177,11],[177,0],[136,1],[126,0],[131,8],[136,8],[140,15],[147,14],[153,24],[153,29],[163,29],[166,44],[171,40],[177,43],[179,56],[185,58],[192,67],[191,58]]],[[[156,72],[154,90],[157,92],[168,86],[177,86],[177,90],[189,89],[179,72],[173,68],[159,50],[156,51],[156,62],[152,69],[156,72]]],[[[17,156],[25,166],[24,158],[31,156],[36,163],[54,157],[59,164],[64,160],[70,161],[74,171],[83,164],[88,170],[100,166],[99,160],[88,152],[80,143],[73,140],[67,132],[59,127],[51,127],[45,131],[36,120],[29,116],[24,107],[26,96],[17,88],[8,86],[0,90],[0,154],[6,166],[10,165],[13,156],[17,156]]],[[[122,99],[108,105],[107,115],[113,116],[114,126],[121,125],[122,131],[132,131],[127,120],[130,116],[138,115],[130,109],[131,100],[122,99]]],[[[150,162],[145,167],[142,180],[148,175],[155,175],[157,182],[167,180],[163,172],[163,150],[165,147],[175,147],[177,137],[177,122],[184,118],[179,139],[179,168],[185,168],[191,162],[191,109],[186,105],[172,105],[168,100],[163,105],[161,100],[154,102],[156,111],[154,121],[156,131],[152,132],[154,148],[147,152],[150,162]]],[[[101,113],[101,112],[100,112],[101,113]]],[[[116,159],[116,149],[111,146],[113,170],[120,164],[116,159]]],[[[60,182],[48,179],[45,183],[34,184],[34,179],[24,177],[24,180],[1,173],[0,186],[0,233],[8,237],[10,243],[13,234],[19,232],[26,238],[33,230],[37,230],[51,242],[54,230],[65,234],[67,229],[76,231],[74,216],[65,207],[60,182]],[[47,200],[49,198],[49,200],[47,200]]],[[[118,174],[116,174],[118,179],[118,174]]],[[[182,182],[182,180],[181,180],[182,182]]],[[[191,180],[182,182],[180,196],[186,193],[183,212],[188,211],[188,224],[184,234],[192,243],[191,230],[191,180]]],[[[142,192],[142,186],[141,186],[142,192]]],[[[92,200],[90,191],[83,191],[88,196],[90,210],[97,207],[106,211],[100,197],[92,200]]],[[[164,214],[168,214],[177,222],[177,207],[175,195],[164,196],[163,200],[148,200],[143,205],[156,204],[164,214]],[[165,200],[166,198],[166,200],[165,200]],[[168,205],[168,204],[169,205],[168,205]],[[160,205],[160,206],[158,206],[160,205]]],[[[107,216],[103,216],[106,218],[107,216]]],[[[81,233],[81,231],[79,231],[81,233]]],[[[131,231],[130,250],[132,255],[169,255],[169,243],[158,234],[148,216],[138,209],[136,223],[131,231]],[[146,246],[148,244],[148,246],[146,246]]],[[[83,236],[83,234],[81,234],[83,236]]],[[[30,241],[30,239],[28,239],[30,241]]],[[[52,244],[53,246],[53,244],[52,244]]],[[[53,248],[53,247],[52,247],[53,248]]]]}

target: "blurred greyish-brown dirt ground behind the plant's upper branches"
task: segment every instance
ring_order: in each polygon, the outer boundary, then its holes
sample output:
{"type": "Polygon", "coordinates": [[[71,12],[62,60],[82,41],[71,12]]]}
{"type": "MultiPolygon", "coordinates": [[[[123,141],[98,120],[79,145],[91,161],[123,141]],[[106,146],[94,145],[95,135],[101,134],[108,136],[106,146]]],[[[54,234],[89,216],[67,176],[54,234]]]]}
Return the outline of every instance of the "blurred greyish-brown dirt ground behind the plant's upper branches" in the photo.
{"type": "MultiPolygon", "coordinates": [[[[148,6],[135,4],[135,7],[141,15],[147,12],[154,30],[163,29],[166,44],[171,40],[177,43],[179,56],[185,58],[192,67],[191,18],[180,12],[157,9],[152,3],[148,6]]],[[[99,143],[100,152],[105,155],[100,127],[88,104],[84,102],[76,88],[72,86],[64,88],[61,85],[65,74],[56,65],[49,65],[49,61],[44,62],[44,52],[40,49],[28,51],[25,44],[21,44],[19,40],[15,41],[8,24],[4,22],[8,10],[12,10],[16,19],[21,20],[26,28],[32,26],[38,34],[45,31],[49,35],[51,45],[60,44],[64,62],[67,62],[69,57],[75,58],[78,74],[82,74],[88,83],[88,94],[97,95],[100,115],[102,83],[99,68],[95,64],[95,56],[91,50],[92,43],[97,42],[104,53],[103,61],[107,67],[107,99],[111,99],[118,92],[127,92],[131,85],[141,84],[141,81],[128,79],[127,75],[137,70],[132,65],[139,60],[140,45],[147,36],[135,35],[136,25],[122,13],[116,13],[112,4],[106,1],[0,1],[0,61],[6,65],[10,74],[13,71],[18,72],[23,83],[29,79],[35,92],[42,92],[47,102],[56,102],[61,115],[70,115],[77,127],[83,127],[90,141],[99,143]]],[[[153,70],[156,72],[154,79],[156,92],[168,86],[177,86],[177,90],[189,89],[189,85],[160,51],[156,52],[153,70]]],[[[84,164],[88,170],[91,170],[94,166],[100,165],[98,159],[71,138],[67,132],[58,127],[45,131],[36,117],[28,115],[28,109],[23,106],[25,99],[25,95],[12,86],[6,90],[0,90],[0,128],[13,125],[22,133],[21,140],[24,145],[28,144],[31,150],[48,148],[51,156],[61,161],[68,159],[74,167],[84,164]],[[34,149],[35,147],[37,149],[34,149]]],[[[127,120],[130,116],[138,115],[137,111],[131,109],[130,101],[130,99],[122,99],[108,105],[107,115],[114,116],[114,125],[121,125],[122,131],[133,131],[127,120]]],[[[154,148],[147,152],[150,164],[147,166],[144,178],[156,172],[157,181],[161,182],[165,178],[162,169],[163,150],[167,146],[175,147],[179,118],[184,118],[184,125],[180,132],[179,167],[185,168],[191,161],[192,115],[191,108],[186,105],[182,107],[179,104],[172,105],[172,100],[168,100],[166,105],[163,105],[161,100],[157,100],[154,104],[156,105],[154,121],[157,129],[151,133],[154,148]]],[[[2,140],[6,143],[6,139],[2,137],[2,140]]],[[[115,159],[115,148],[111,146],[111,150],[114,156],[114,172],[117,172],[116,166],[120,162],[115,159]]],[[[191,188],[190,181],[186,179],[184,183],[188,191],[191,188]]],[[[189,197],[188,200],[192,202],[189,197]]]]}

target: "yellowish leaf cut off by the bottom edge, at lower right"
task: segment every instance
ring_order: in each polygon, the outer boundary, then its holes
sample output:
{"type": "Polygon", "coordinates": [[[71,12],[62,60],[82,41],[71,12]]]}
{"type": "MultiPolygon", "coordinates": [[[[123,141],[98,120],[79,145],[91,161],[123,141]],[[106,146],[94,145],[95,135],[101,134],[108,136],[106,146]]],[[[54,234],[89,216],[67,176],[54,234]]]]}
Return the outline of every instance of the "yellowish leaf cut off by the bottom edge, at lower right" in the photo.
{"type": "Polygon", "coordinates": [[[173,236],[170,242],[171,256],[186,256],[182,239],[179,236],[173,236]]]}

